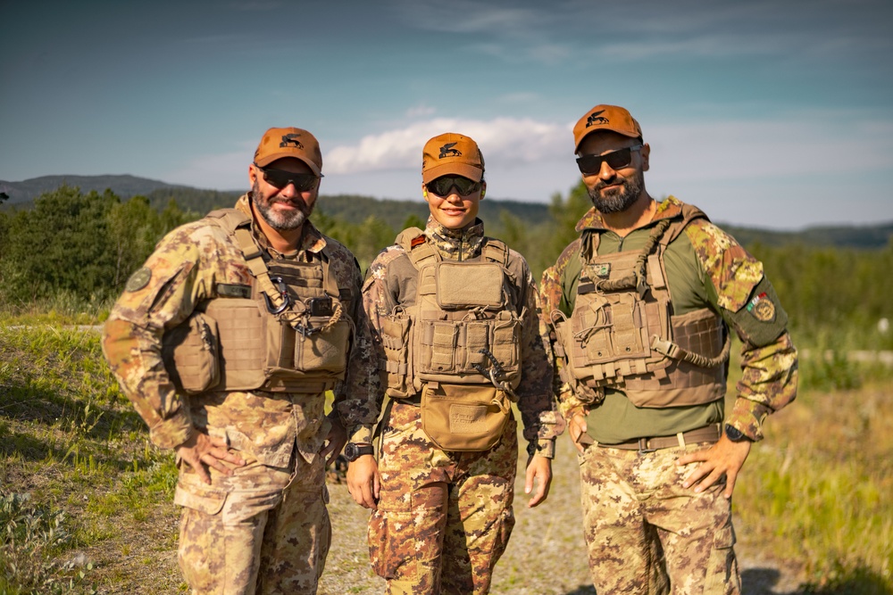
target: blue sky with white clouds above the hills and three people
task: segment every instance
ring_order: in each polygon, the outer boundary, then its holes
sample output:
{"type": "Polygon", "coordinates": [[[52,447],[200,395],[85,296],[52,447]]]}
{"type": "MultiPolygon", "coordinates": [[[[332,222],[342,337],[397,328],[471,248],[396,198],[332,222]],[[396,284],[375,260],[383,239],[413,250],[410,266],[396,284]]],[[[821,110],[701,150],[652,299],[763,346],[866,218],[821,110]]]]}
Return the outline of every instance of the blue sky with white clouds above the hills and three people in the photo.
{"type": "Polygon", "coordinates": [[[547,202],[571,128],[626,106],[647,189],[714,221],[893,220],[890,0],[4,2],[0,180],[245,189],[263,130],[321,142],[322,194],[421,201],[421,146],[475,138],[488,199],[547,202]]]}

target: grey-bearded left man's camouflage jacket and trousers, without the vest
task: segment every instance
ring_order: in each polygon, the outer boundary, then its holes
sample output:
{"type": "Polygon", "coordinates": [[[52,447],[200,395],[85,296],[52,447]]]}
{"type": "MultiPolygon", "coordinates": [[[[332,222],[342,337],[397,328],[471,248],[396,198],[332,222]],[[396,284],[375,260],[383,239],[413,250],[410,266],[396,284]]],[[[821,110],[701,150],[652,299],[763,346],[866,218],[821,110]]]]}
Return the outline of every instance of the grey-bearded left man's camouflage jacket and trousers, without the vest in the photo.
{"type": "MultiPolygon", "coordinates": [[[[236,208],[251,216],[248,194],[236,208]]],[[[311,261],[325,248],[342,301],[348,296],[347,314],[365,326],[360,271],[344,246],[309,221],[296,256],[273,250],[256,221],[252,232],[273,259],[311,261]]],[[[179,563],[193,592],[314,593],[330,543],[324,460],[318,454],[330,429],[325,394],[256,390],[184,396],[163,364],[165,331],[216,297],[213,288],[221,283],[252,283],[227,232],[204,220],[175,229],[115,303],[104,329],[104,353],[155,445],[174,448],[197,428],[225,439],[230,452],[246,460],[244,467],[230,466],[230,476],[210,469],[211,485],[178,461],[174,501],[184,507],[179,563]]],[[[369,363],[368,354],[363,358],[355,348],[348,368],[370,376],[369,363]]],[[[345,384],[335,387],[336,401],[345,398],[345,384]]]]}

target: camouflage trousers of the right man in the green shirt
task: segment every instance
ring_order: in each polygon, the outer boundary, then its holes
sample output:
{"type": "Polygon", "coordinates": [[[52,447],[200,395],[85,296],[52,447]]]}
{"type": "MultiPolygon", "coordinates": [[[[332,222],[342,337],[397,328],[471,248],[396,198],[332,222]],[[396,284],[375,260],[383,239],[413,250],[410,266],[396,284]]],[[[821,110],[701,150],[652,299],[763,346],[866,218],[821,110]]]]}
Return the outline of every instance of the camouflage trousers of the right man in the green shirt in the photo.
{"type": "Polygon", "coordinates": [[[740,592],[724,483],[695,493],[682,481],[698,463],[676,466],[684,452],[709,446],[641,454],[589,446],[580,455],[583,527],[599,595],[740,592]]]}

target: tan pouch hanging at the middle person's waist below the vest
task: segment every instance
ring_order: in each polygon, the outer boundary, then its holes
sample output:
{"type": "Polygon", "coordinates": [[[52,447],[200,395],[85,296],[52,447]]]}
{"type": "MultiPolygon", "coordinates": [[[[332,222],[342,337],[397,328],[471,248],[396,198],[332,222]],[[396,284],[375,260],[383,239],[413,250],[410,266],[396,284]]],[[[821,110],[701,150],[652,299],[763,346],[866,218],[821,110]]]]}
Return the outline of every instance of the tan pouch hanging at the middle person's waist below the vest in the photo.
{"type": "Polygon", "coordinates": [[[511,415],[512,401],[494,386],[428,383],[421,391],[421,428],[442,450],[490,450],[511,415]]]}

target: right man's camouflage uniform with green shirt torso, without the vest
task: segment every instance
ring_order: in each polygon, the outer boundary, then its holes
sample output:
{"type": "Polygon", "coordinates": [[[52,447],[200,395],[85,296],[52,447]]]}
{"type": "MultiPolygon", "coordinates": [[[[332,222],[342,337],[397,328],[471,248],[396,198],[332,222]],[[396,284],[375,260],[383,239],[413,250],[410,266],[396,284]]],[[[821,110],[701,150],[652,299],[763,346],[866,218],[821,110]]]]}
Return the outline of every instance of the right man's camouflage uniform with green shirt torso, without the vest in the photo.
{"type": "MultiPolygon", "coordinates": [[[[682,203],[670,196],[654,219],[620,238],[591,209],[577,230],[600,238],[598,254],[637,250],[663,219],[679,218],[682,203]],[[622,248],[621,248],[622,246],[622,248]]],[[[570,316],[580,280],[582,239],[570,244],[541,285],[544,324],[560,310],[570,316]]],[[[711,424],[737,428],[750,440],[763,438],[765,417],[792,401],[797,391],[797,351],[763,265],[731,236],[706,219],[694,219],[664,254],[672,312],[699,308],[717,312],[741,339],[744,374],[728,417],[723,400],[667,408],[638,408],[622,390],[607,386],[594,401],[580,398],[557,380],[555,392],[567,418],[587,417],[593,445],[580,456],[580,479],[589,566],[599,593],[739,592],[730,500],[714,484],[695,493],[681,487],[697,464],[675,461],[710,443],[651,452],[610,448],[640,438],[673,436],[711,424]],[[754,305],[759,303],[759,310],[754,305]],[[770,317],[769,314],[772,314],[770,317]],[[770,319],[771,318],[771,319],[770,319]]],[[[562,362],[556,359],[556,366],[562,362]]],[[[558,376],[556,374],[556,376],[558,376]]]]}

